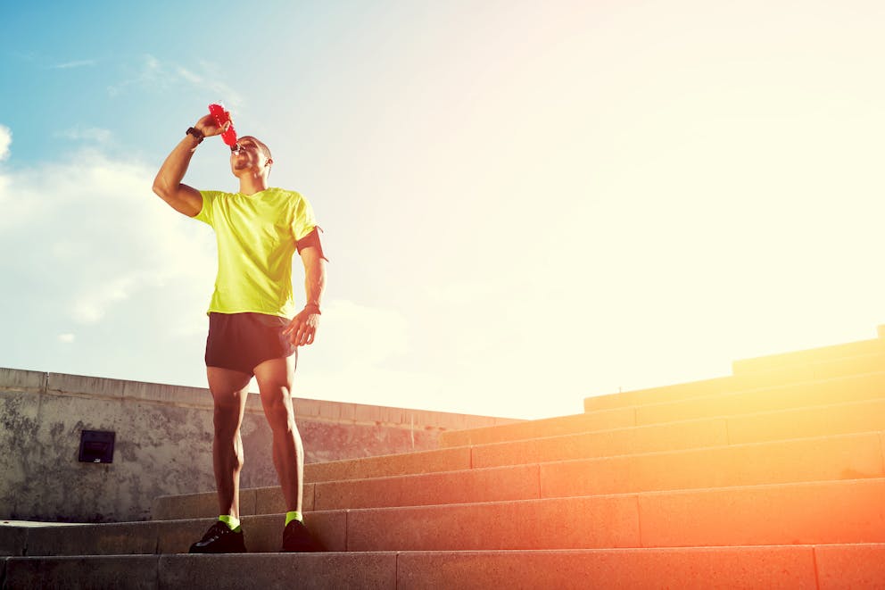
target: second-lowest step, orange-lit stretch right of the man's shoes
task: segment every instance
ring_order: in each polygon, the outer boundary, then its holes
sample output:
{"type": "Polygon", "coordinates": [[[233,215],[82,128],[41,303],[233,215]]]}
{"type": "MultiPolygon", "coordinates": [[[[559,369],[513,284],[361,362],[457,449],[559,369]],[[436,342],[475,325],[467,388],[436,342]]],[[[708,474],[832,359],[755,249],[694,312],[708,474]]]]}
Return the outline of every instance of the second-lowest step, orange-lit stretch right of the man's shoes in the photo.
{"type": "Polygon", "coordinates": [[[352,510],[348,551],[885,543],[885,479],[352,510]]]}

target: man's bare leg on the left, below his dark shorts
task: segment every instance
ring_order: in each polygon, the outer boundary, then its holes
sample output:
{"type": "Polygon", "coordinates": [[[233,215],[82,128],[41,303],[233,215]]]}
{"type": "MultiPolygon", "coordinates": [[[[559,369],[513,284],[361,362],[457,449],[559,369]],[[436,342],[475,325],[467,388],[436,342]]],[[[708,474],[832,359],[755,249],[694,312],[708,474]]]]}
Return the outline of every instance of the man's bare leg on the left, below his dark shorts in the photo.
{"type": "Polygon", "coordinates": [[[219,514],[229,514],[238,519],[240,470],[244,461],[240,425],[243,423],[252,375],[219,367],[207,367],[206,374],[215,405],[212,465],[219,494],[219,514]]]}

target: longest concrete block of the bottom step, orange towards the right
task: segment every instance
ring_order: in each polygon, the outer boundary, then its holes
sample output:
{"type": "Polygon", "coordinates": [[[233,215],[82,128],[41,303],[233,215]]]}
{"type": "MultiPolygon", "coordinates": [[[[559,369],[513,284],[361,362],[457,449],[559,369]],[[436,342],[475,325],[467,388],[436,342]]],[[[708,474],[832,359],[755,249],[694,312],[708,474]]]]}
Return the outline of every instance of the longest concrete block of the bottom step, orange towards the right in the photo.
{"type": "Polygon", "coordinates": [[[404,552],[398,588],[808,588],[811,547],[404,552]]]}

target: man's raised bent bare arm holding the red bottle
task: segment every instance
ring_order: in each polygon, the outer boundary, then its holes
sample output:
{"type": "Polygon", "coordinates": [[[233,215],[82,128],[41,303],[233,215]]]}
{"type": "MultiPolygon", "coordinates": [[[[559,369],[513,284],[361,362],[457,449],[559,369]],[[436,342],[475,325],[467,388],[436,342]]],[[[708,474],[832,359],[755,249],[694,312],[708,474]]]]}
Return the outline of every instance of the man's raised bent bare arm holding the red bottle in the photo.
{"type": "MultiPolygon", "coordinates": [[[[226,127],[228,124],[225,124],[226,127]]],[[[219,127],[211,115],[204,116],[194,125],[193,129],[197,135],[187,133],[166,157],[160,171],[157,172],[157,178],[153,179],[153,192],[160,195],[160,198],[177,212],[194,217],[203,209],[203,197],[200,191],[182,184],[181,180],[185,178],[187,166],[194,156],[196,146],[203,141],[199,135],[202,134],[203,137],[219,135],[226,127],[219,127]]]]}

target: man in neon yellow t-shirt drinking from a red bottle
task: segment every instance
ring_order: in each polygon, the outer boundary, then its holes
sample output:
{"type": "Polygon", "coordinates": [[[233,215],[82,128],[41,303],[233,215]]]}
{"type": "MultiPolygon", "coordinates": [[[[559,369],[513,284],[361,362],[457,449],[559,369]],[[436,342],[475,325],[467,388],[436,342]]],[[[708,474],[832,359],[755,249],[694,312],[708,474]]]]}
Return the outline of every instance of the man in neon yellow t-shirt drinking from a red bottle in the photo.
{"type": "Polygon", "coordinates": [[[214,404],[212,462],[220,516],[191,553],[246,551],[240,527],[240,425],[252,376],[273,432],[274,466],[286,503],[281,551],[321,551],[302,520],[304,450],[295,427],[292,388],[297,347],[316,337],[326,259],[310,204],[298,193],[268,187],[273,159],[268,146],[255,137],[241,137],[232,148],[230,168],[239,192],[198,191],[182,184],[197,145],[229,125],[219,127],[211,115],[198,120],[153,181],[154,193],[176,211],[208,223],[218,243],[206,374],[214,404]],[[304,264],[306,291],[306,304],[297,313],[291,276],[295,252],[304,264]]]}

